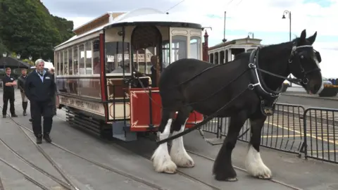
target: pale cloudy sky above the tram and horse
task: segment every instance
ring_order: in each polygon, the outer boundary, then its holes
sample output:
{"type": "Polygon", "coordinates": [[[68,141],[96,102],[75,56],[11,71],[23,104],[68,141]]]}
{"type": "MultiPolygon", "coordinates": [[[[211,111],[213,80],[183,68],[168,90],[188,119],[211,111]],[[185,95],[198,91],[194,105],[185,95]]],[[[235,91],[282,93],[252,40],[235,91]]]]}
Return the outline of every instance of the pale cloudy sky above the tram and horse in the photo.
{"type": "Polygon", "coordinates": [[[209,46],[225,38],[230,41],[247,37],[262,39],[261,44],[289,41],[291,11],[292,39],[306,29],[307,37],[317,32],[314,49],[322,56],[323,77],[338,78],[338,0],[44,0],[53,15],[73,20],[78,27],[107,11],[132,11],[137,8],[156,8],[182,16],[184,20],[201,23],[208,30],[209,46]],[[250,34],[252,37],[252,34],[250,34]]]}

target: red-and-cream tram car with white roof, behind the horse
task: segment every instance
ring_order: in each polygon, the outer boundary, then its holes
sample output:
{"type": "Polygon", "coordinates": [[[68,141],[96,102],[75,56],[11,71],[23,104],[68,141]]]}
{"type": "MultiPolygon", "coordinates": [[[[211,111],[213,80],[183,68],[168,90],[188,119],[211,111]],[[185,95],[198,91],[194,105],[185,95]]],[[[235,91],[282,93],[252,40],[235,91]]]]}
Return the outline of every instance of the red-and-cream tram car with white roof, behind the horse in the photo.
{"type": "MultiPolygon", "coordinates": [[[[70,125],[123,141],[156,132],[158,79],[180,58],[202,59],[199,23],[153,8],[108,12],[75,30],[54,49],[56,106],[70,125]]],[[[203,121],[193,112],[187,128],[203,121]]]]}

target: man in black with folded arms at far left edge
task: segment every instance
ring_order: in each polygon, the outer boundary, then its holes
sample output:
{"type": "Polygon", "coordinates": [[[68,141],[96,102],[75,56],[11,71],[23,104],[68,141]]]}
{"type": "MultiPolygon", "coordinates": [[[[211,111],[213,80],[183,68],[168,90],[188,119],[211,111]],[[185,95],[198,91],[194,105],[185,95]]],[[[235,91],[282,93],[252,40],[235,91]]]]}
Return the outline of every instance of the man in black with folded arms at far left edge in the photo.
{"type": "Polygon", "coordinates": [[[10,112],[11,117],[18,117],[18,115],[15,114],[15,108],[14,108],[14,101],[15,101],[15,94],[14,94],[14,86],[16,85],[14,77],[11,75],[11,68],[6,68],[6,75],[2,79],[2,82],[4,84],[4,94],[2,96],[4,100],[4,106],[2,108],[2,117],[6,118],[7,114],[7,106],[8,106],[8,100],[10,104],[10,112]]]}

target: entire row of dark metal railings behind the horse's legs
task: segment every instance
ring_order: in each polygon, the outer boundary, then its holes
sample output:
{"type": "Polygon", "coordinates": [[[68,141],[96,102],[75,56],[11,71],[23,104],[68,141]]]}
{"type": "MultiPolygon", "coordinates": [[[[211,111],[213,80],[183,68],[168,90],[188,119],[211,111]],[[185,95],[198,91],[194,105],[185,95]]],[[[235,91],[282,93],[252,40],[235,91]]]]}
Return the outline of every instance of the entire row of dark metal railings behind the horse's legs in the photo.
{"type": "MultiPolygon", "coordinates": [[[[227,135],[230,118],[214,118],[204,132],[227,135]]],[[[249,120],[239,132],[239,140],[250,141],[249,120]]],[[[277,103],[275,114],[265,120],[261,146],[296,153],[301,157],[338,163],[338,109],[308,108],[277,103]]]]}

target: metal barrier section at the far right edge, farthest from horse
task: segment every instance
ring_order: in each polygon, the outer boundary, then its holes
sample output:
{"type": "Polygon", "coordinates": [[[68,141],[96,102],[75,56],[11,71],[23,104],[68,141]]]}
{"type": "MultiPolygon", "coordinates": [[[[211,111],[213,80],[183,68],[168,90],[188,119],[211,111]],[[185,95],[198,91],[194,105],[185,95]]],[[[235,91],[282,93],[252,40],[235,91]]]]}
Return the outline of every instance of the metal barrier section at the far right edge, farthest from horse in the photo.
{"type": "Polygon", "coordinates": [[[338,163],[338,110],[308,108],[303,120],[305,158],[338,163]]]}

